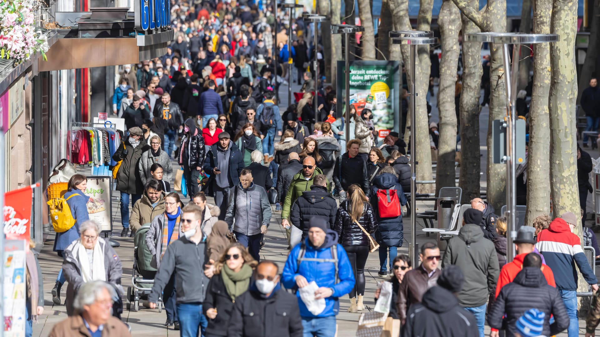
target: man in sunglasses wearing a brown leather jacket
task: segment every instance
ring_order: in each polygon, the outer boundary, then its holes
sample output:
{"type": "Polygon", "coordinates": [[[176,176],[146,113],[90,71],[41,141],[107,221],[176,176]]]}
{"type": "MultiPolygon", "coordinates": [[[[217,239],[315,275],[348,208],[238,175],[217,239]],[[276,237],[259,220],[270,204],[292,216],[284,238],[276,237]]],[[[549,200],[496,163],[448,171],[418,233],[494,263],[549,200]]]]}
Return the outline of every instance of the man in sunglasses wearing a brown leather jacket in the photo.
{"type": "Polygon", "coordinates": [[[423,294],[437,283],[437,278],[441,271],[437,269],[440,261],[440,249],[436,243],[427,242],[421,246],[421,264],[416,269],[410,270],[404,274],[404,279],[398,288],[398,299],[396,302],[398,308],[398,318],[406,322],[406,312],[410,305],[421,303],[423,294]]]}

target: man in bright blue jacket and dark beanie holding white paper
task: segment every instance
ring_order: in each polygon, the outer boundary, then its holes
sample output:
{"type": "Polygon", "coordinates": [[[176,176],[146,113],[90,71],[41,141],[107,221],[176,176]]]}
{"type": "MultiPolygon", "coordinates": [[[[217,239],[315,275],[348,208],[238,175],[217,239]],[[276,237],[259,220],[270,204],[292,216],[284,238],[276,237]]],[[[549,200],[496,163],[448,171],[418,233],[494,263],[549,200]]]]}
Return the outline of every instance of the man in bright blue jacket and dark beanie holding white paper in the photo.
{"type": "Polygon", "coordinates": [[[304,288],[308,282],[316,282],[319,289],[315,299],[325,299],[325,309],[313,313],[296,293],[304,335],[315,337],[335,335],[335,315],[340,311],[339,297],[350,293],[355,278],[348,255],[338,243],[338,234],[329,228],[324,218],[310,221],[308,238],[296,245],[287,257],[283,269],[284,287],[304,288]]]}

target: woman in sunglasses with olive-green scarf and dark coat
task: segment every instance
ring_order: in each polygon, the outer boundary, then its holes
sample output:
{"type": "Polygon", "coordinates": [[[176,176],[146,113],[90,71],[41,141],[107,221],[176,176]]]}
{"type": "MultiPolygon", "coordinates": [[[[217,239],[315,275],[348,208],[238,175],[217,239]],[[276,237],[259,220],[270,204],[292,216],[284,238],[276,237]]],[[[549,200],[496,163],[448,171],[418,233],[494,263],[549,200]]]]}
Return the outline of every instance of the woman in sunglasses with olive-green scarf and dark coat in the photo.
{"type": "Polygon", "coordinates": [[[257,264],[240,243],[232,243],[221,255],[202,303],[203,314],[208,317],[204,336],[223,335],[223,327],[229,325],[233,303],[248,290],[257,264]]]}

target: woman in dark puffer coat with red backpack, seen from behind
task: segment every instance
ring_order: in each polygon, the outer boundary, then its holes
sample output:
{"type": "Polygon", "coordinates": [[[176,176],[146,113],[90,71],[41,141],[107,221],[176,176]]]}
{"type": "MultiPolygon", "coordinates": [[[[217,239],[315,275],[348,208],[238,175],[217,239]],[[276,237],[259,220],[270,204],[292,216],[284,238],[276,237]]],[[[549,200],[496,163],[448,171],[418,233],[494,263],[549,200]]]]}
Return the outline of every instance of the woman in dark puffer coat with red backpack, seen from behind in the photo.
{"type": "Polygon", "coordinates": [[[395,189],[398,195],[398,201],[404,206],[406,204],[406,196],[400,183],[398,183],[398,176],[391,166],[383,167],[379,174],[373,179],[373,186],[371,187],[371,204],[373,205],[373,211],[377,218],[377,231],[375,232],[375,239],[379,243],[379,275],[387,275],[386,262],[388,261],[388,249],[389,249],[389,270],[392,270],[392,261],[398,254],[398,247],[402,246],[404,239],[404,227],[402,224],[402,215],[394,216],[392,218],[380,218],[377,191],[379,189],[395,189]]]}

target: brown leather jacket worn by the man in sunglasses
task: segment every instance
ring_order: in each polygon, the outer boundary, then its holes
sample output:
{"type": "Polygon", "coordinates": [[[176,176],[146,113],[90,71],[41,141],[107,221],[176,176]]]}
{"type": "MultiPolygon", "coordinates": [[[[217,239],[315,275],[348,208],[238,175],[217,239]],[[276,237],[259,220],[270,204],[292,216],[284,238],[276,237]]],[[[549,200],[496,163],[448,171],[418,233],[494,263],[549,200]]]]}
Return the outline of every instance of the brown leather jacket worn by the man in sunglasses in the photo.
{"type": "Polygon", "coordinates": [[[398,289],[398,298],[396,306],[398,309],[398,318],[403,322],[406,321],[406,313],[410,305],[421,303],[423,295],[429,288],[437,285],[437,278],[442,273],[442,270],[436,269],[431,276],[423,268],[422,264],[416,269],[410,270],[404,274],[400,288],[398,289]]]}

